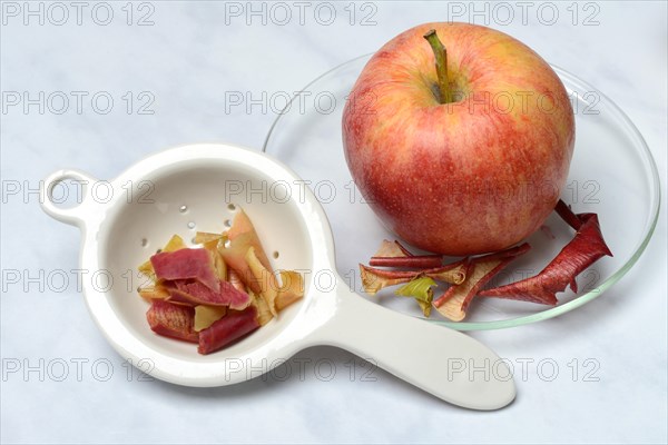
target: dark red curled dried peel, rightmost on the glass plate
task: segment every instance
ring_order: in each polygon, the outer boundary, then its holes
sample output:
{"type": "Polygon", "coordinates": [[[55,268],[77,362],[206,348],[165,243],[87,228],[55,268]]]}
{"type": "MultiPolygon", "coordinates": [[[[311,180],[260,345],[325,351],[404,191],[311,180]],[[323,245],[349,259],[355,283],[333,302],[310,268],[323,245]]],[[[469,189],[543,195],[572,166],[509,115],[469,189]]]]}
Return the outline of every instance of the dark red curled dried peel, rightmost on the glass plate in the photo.
{"type": "Polygon", "coordinates": [[[612,256],[596,214],[574,215],[563,201],[559,201],[556,210],[567,224],[577,227],[573,239],[538,275],[483,290],[480,296],[556,305],[557,293],[563,291],[569,284],[577,291],[574,278],[601,257],[612,256]]]}

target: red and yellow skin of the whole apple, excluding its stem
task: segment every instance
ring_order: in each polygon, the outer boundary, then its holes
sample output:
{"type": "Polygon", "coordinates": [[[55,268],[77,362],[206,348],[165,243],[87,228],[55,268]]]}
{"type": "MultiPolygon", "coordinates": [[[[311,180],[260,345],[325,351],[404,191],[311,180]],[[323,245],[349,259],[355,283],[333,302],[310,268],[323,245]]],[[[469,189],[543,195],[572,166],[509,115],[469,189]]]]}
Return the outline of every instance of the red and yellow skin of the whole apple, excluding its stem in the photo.
{"type": "Polygon", "coordinates": [[[564,186],[574,145],[567,91],[533,50],[500,31],[425,23],[383,46],[343,112],[353,179],[384,225],[452,256],[536,231],[564,186]],[[458,101],[440,103],[435,29],[458,101]]]}

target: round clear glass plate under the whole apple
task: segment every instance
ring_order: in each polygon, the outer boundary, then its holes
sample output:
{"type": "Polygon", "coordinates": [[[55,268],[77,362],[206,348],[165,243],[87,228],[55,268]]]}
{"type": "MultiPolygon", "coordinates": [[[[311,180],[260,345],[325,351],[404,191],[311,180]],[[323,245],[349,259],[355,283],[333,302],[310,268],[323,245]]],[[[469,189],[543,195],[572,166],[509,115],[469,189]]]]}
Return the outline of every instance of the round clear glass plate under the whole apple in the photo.
{"type": "MultiPolygon", "coordinates": [[[[341,117],[370,55],[325,72],[281,112],[263,150],[283,160],[307,181],[323,204],[334,230],[336,267],[358,293],[358,264],[367,264],[383,238],[394,239],[363,201],[348,172],[342,145],[341,117]]],[[[576,212],[599,214],[615,257],[605,257],[578,277],[578,293],[558,294],[554,307],[498,298],[474,298],[464,322],[429,320],[460,330],[498,329],[564,314],[600,296],[638,260],[654,231],[659,211],[659,178],[642,136],[628,117],[596,88],[553,67],[576,112],[576,149],[562,199],[576,212]]],[[[490,286],[539,273],[572,239],[572,230],[552,215],[528,241],[532,249],[513,261],[490,286]]],[[[369,297],[383,306],[421,317],[410,298],[394,288],[369,297]]],[[[438,296],[440,294],[435,294],[438,296]]]]}

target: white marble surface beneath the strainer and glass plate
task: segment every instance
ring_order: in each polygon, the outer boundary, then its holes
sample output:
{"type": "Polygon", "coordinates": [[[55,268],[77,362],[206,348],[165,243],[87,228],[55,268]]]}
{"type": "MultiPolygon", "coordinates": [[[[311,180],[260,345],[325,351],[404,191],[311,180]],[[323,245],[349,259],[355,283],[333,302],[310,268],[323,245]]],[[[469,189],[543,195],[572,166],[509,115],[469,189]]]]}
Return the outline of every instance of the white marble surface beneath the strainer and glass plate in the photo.
{"type": "MultiPolygon", "coordinates": [[[[78,267],[79,235],[42,214],[35,194],[23,196],[27,188],[62,167],[111,178],[146,154],[184,142],[230,141],[259,149],[276,112],[271,103],[267,110],[226,110],[230,92],[261,98],[266,91],[278,100],[401,30],[448,19],[460,7],[465,10],[461,20],[484,22],[484,16],[469,16],[469,2],[454,3],[357,3],[353,24],[347,2],[337,3],[336,19],[325,26],[325,7],[315,16],[317,3],[306,2],[301,24],[299,7],[287,2],[292,21],[281,26],[284,10],[272,16],[269,3],[263,24],[261,16],[248,16],[246,2],[145,2],[132,4],[128,26],[126,2],[109,2],[114,19],[100,26],[91,11],[97,8],[96,19],[104,21],[104,6],[86,3],[77,24],[77,10],[66,2],[69,18],[58,26],[62,9],[43,3],[40,24],[38,16],[26,17],[26,3],[3,2],[1,441],[666,443],[666,207],[644,257],[602,298],[550,322],[473,334],[515,364],[528,362],[524,373],[518,365],[517,400],[495,413],[445,405],[381,370],[367,382],[358,359],[351,378],[354,357],[328,347],[301,353],[305,370],[295,363],[287,379],[275,374],[216,389],[139,382],[89,319],[73,277],[67,286],[58,280],[56,271],[78,267]],[[239,17],[232,14],[239,9],[239,17]],[[154,24],[137,26],[147,13],[154,24]],[[362,26],[369,13],[375,24],[362,26]],[[58,95],[47,100],[43,113],[38,105],[27,112],[11,106],[13,92],[23,91],[32,98],[62,91],[69,109],[56,113],[58,95]],[[80,113],[70,91],[89,95],[80,113]],[[91,107],[99,91],[114,99],[107,115],[91,107]],[[131,113],[122,98],[127,91],[134,96],[131,113]],[[138,98],[141,91],[155,98],[153,115],[137,113],[146,101],[138,98]],[[14,195],[17,185],[21,192],[14,195]],[[592,369],[583,365],[588,358],[599,365],[598,382],[584,378],[592,369]],[[538,368],[541,359],[559,367],[553,380],[546,378],[548,368],[538,368]],[[331,380],[315,366],[318,360],[335,366],[331,380]],[[112,374],[101,382],[109,365],[112,374]],[[16,366],[20,369],[12,372],[16,366]]],[[[550,3],[559,12],[552,26],[541,23],[551,20],[550,6],[507,4],[514,18],[507,20],[507,10],[488,4],[489,24],[596,85],[626,110],[654,152],[665,192],[666,3],[550,3]],[[521,8],[529,8],[525,23],[521,8]],[[573,8],[579,12],[574,23],[573,8]],[[584,26],[592,13],[598,24],[584,26]]],[[[105,106],[102,99],[98,106],[105,106]]]]}

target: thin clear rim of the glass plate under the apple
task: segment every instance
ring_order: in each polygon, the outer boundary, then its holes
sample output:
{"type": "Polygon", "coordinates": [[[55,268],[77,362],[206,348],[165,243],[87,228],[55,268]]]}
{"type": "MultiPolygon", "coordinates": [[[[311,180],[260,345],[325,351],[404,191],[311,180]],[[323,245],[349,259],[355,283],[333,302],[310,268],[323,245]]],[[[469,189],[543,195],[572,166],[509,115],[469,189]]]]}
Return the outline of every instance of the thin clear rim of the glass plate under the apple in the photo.
{"type": "MultiPolygon", "coordinates": [[[[328,77],[328,76],[335,73],[337,70],[340,70],[348,65],[355,63],[355,62],[360,61],[361,59],[367,59],[371,56],[373,56],[373,53],[362,55],[362,56],[355,57],[353,59],[346,60],[346,61],[335,66],[334,68],[331,68],[330,70],[323,72],[322,75],[320,75],[315,79],[313,79],[311,82],[308,82],[304,88],[302,88],[301,91],[306,91],[310,87],[317,83],[321,79],[328,77]]],[[[578,296],[577,298],[573,298],[572,300],[567,301],[562,305],[559,305],[559,306],[556,306],[556,307],[552,307],[552,308],[549,308],[546,310],[541,310],[536,314],[525,315],[522,317],[509,318],[509,319],[503,319],[503,320],[493,320],[493,322],[446,322],[446,320],[429,319],[429,318],[422,318],[422,317],[415,317],[415,318],[420,318],[425,322],[434,323],[434,324],[438,324],[441,326],[446,326],[446,327],[450,327],[450,328],[453,328],[456,330],[505,329],[505,328],[523,326],[523,325],[532,324],[536,322],[542,322],[542,320],[547,320],[550,318],[554,318],[559,315],[566,314],[566,313],[571,312],[580,306],[583,306],[587,303],[593,300],[595,298],[601,296],[607,289],[609,289],[617,281],[619,281],[621,279],[621,277],[623,277],[631,269],[631,267],[633,267],[633,265],[638,261],[638,259],[640,258],[640,256],[647,248],[647,245],[649,244],[649,240],[651,239],[655,228],[657,226],[657,221],[659,218],[659,210],[660,210],[660,201],[661,201],[659,172],[658,172],[654,156],[651,154],[651,150],[649,149],[647,142],[645,141],[645,138],[642,137],[642,135],[640,134],[640,131],[638,130],[636,125],[626,115],[626,112],[623,112],[623,110],[621,108],[619,108],[619,106],[612,99],[610,99],[608,96],[602,93],[598,88],[595,88],[589,82],[580,79],[579,77],[570,73],[569,71],[567,71],[560,67],[557,67],[554,65],[551,65],[551,63],[550,63],[550,67],[552,67],[552,69],[559,75],[560,78],[562,78],[562,79],[568,78],[568,80],[571,83],[577,85],[578,87],[584,89],[586,91],[596,91],[598,95],[600,95],[601,101],[605,101],[607,103],[607,106],[612,110],[612,112],[616,113],[617,117],[628,127],[628,129],[631,130],[631,135],[636,139],[636,142],[637,142],[638,147],[640,148],[638,150],[638,152],[639,152],[646,168],[651,172],[651,178],[649,178],[650,179],[650,188],[651,188],[651,190],[650,190],[651,191],[650,218],[648,219],[648,221],[646,224],[646,227],[645,227],[646,233],[645,233],[644,238],[636,246],[636,250],[635,250],[633,255],[631,255],[631,257],[621,267],[619,267],[618,270],[616,270],[612,275],[610,275],[603,283],[601,283],[599,286],[595,287],[587,294],[582,294],[582,295],[578,296]]],[[[293,101],[295,99],[297,99],[297,97],[298,97],[298,92],[295,93],[291,98],[291,100],[286,103],[284,109],[281,112],[278,112],[278,116],[272,122],[272,126],[269,127],[269,131],[267,132],[265,141],[262,146],[263,152],[267,152],[267,147],[272,140],[272,137],[274,136],[274,130],[275,130],[276,126],[278,125],[281,119],[284,117],[284,115],[288,112],[293,101]]]]}

